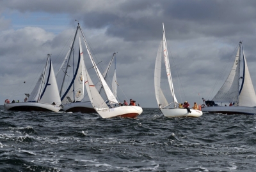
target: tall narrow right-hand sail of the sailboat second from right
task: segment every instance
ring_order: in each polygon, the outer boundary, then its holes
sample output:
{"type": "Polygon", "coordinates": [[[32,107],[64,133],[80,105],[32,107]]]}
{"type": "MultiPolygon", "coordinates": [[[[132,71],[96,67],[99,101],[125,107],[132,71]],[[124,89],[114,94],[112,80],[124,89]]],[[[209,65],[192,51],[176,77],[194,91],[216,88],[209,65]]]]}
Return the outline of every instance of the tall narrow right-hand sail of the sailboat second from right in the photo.
{"type": "Polygon", "coordinates": [[[164,53],[164,63],[166,68],[166,74],[167,74],[170,90],[172,92],[173,101],[175,103],[178,103],[174,94],[174,89],[173,89],[172,74],[171,74],[171,68],[170,68],[170,62],[169,62],[168,50],[167,50],[166,38],[165,38],[165,32],[164,32],[164,23],[163,23],[163,53],[164,53]]]}

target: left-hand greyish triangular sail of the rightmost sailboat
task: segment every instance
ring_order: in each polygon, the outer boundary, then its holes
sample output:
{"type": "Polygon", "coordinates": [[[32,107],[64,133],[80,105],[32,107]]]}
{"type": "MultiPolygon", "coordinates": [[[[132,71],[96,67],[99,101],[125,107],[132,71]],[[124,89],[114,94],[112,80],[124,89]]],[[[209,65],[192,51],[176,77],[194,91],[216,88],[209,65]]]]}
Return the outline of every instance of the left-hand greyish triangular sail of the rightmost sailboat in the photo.
{"type": "Polygon", "coordinates": [[[222,85],[221,89],[213,97],[212,101],[218,103],[224,102],[237,102],[239,90],[239,73],[240,73],[240,56],[241,47],[239,46],[234,61],[233,67],[228,75],[227,80],[222,85]]]}

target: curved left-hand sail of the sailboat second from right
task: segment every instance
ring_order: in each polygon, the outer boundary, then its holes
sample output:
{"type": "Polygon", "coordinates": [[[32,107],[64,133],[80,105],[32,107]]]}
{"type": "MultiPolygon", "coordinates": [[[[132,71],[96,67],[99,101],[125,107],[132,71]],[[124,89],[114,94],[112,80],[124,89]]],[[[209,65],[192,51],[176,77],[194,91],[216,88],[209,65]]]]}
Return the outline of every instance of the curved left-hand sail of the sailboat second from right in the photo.
{"type": "Polygon", "coordinates": [[[162,63],[162,51],[163,51],[163,41],[161,41],[157,56],[156,56],[156,64],[155,64],[155,75],[154,75],[154,84],[155,84],[155,94],[156,94],[156,101],[159,108],[167,106],[168,102],[164,97],[164,94],[161,89],[161,63],[162,63]]]}

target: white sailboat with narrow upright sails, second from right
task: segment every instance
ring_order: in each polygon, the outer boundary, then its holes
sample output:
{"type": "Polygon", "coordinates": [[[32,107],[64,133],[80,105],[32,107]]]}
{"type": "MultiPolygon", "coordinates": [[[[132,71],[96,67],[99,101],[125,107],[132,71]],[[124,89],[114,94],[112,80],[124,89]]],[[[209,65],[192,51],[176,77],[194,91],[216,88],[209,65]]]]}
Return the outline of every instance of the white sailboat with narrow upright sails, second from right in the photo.
{"type": "Polygon", "coordinates": [[[200,110],[193,110],[190,109],[191,113],[186,108],[178,108],[177,104],[178,101],[176,99],[174,88],[173,88],[173,81],[172,81],[172,75],[171,75],[171,69],[170,69],[170,62],[168,57],[168,50],[166,45],[166,38],[165,38],[165,32],[164,32],[164,23],[163,23],[163,41],[161,41],[157,57],[156,57],[156,64],[155,64],[155,73],[154,73],[154,84],[155,84],[155,94],[156,94],[156,100],[157,104],[164,114],[165,117],[200,117],[203,115],[202,111],[200,110]],[[162,55],[163,52],[163,55],[162,55]],[[163,94],[163,91],[161,89],[161,61],[162,56],[164,57],[164,63],[165,63],[165,69],[166,74],[168,78],[168,83],[170,86],[170,90],[173,97],[173,102],[168,103],[166,100],[166,97],[163,94]],[[172,107],[170,105],[173,104],[172,107]]]}

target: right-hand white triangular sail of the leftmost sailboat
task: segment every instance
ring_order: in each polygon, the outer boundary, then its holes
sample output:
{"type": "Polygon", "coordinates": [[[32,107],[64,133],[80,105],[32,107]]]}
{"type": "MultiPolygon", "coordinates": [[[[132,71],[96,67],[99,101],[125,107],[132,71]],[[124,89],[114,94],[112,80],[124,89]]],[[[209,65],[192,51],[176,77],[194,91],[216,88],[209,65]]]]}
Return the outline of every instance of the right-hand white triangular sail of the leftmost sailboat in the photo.
{"type": "Polygon", "coordinates": [[[45,84],[42,94],[40,95],[40,103],[52,104],[55,102],[57,105],[61,104],[58,85],[56,82],[54,69],[52,68],[52,61],[50,60],[48,75],[45,75],[45,84]]]}

